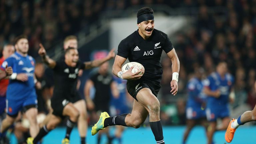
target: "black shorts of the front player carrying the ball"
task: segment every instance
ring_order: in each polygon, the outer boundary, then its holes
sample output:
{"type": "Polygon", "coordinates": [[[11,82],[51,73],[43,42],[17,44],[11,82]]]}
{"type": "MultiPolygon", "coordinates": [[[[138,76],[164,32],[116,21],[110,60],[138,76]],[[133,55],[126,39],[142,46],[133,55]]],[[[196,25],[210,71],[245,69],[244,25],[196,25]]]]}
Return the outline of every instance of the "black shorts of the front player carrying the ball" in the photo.
{"type": "Polygon", "coordinates": [[[152,82],[146,82],[143,80],[128,80],[126,83],[128,93],[136,100],[138,92],[143,88],[149,88],[151,92],[157,97],[157,94],[161,88],[161,85],[154,84],[152,82]]]}

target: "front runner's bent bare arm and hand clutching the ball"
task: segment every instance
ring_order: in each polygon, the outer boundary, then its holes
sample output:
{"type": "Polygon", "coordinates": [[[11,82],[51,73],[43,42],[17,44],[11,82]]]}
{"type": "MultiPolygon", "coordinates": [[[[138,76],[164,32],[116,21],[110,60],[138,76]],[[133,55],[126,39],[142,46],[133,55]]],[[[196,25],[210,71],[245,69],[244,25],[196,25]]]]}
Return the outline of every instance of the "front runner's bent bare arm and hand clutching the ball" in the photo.
{"type": "MultiPolygon", "coordinates": [[[[121,67],[126,61],[126,58],[123,58],[119,55],[116,55],[113,67],[112,67],[112,72],[114,75],[118,76],[118,72],[122,71],[121,67]]],[[[138,75],[142,70],[137,71],[136,73],[132,73],[133,67],[131,67],[127,72],[122,74],[123,79],[126,80],[137,80],[142,77],[142,75],[138,75]]]]}

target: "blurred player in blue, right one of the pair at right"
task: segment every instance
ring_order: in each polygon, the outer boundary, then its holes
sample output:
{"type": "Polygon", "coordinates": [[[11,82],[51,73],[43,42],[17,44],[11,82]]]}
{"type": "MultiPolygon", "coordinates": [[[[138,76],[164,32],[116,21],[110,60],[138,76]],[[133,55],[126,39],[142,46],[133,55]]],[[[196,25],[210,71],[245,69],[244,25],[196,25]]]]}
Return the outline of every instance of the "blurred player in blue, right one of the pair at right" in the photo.
{"type": "Polygon", "coordinates": [[[232,100],[229,95],[233,91],[234,79],[229,74],[226,62],[219,62],[216,67],[216,72],[213,72],[205,83],[204,92],[207,97],[206,117],[210,122],[208,127],[208,144],[213,143],[213,135],[216,130],[226,130],[228,127],[229,100],[232,100]],[[222,119],[222,127],[216,128],[217,118],[222,119]]]}

